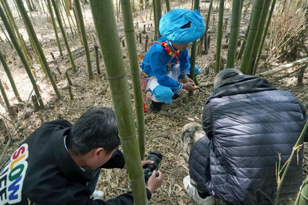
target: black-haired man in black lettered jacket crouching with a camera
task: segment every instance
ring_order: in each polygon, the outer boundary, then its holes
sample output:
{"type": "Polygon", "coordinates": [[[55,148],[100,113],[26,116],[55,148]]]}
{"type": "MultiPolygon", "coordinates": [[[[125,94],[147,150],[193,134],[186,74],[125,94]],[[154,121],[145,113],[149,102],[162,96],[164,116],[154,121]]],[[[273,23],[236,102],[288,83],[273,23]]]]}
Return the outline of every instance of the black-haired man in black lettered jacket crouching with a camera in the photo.
{"type": "MultiPolygon", "coordinates": [[[[102,201],[93,194],[101,168],[126,168],[113,110],[91,108],[72,125],[46,122],[14,152],[0,172],[0,205],[133,205],[132,192],[102,201]]],[[[142,165],[152,161],[143,161],[142,165]]],[[[159,171],[158,171],[159,172],[159,171]]],[[[148,199],[161,186],[155,171],[148,199]]]]}

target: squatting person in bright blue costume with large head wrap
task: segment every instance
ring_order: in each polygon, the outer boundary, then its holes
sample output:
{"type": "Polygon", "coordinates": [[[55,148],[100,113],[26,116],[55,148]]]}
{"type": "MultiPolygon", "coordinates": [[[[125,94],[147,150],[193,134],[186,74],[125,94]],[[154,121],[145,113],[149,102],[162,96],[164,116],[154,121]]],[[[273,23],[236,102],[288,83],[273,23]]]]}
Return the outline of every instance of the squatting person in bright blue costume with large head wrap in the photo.
{"type": "MultiPolygon", "coordinates": [[[[173,9],[160,19],[159,31],[162,37],[151,43],[140,66],[140,76],[150,80],[146,89],[152,93],[152,112],[160,111],[163,103],[172,103],[182,89],[196,89],[189,78],[187,48],[203,35],[205,24],[197,10],[173,9]]],[[[195,76],[199,73],[195,66],[195,76]]]]}

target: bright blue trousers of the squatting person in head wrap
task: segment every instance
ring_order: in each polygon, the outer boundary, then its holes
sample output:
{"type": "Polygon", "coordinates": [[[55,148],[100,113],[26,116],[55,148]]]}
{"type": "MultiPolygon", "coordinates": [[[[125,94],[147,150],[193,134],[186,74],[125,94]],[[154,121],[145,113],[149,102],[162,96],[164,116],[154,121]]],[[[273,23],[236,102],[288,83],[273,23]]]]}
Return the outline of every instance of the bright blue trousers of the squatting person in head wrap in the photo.
{"type": "MultiPolygon", "coordinates": [[[[195,65],[195,76],[200,74],[200,70],[197,65],[195,65]]],[[[183,75],[181,74],[178,79],[183,79],[183,75]]],[[[174,92],[171,90],[170,87],[158,85],[155,87],[155,89],[152,91],[149,89],[149,91],[154,95],[155,99],[170,104],[172,103],[172,97],[174,95],[174,92]]]]}

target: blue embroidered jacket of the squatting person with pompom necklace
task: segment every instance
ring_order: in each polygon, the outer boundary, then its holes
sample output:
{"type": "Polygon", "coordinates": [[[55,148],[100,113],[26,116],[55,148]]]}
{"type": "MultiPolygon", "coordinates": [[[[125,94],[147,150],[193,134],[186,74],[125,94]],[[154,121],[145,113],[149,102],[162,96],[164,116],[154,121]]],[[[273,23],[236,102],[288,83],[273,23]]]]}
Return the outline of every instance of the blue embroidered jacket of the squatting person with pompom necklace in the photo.
{"type": "MultiPolygon", "coordinates": [[[[164,42],[164,38],[160,38],[157,41],[164,42]]],[[[169,44],[169,43],[168,43],[169,44]]],[[[172,48],[169,45],[170,48],[172,48]]],[[[182,75],[190,74],[190,62],[187,48],[184,51],[180,51],[177,56],[180,61],[180,70],[182,75]]],[[[165,50],[164,46],[158,43],[153,43],[145,54],[140,68],[149,77],[156,76],[157,82],[160,85],[170,87],[172,91],[179,93],[183,88],[183,83],[179,83],[173,80],[167,74],[176,64],[176,58],[172,58],[165,50]]]]}

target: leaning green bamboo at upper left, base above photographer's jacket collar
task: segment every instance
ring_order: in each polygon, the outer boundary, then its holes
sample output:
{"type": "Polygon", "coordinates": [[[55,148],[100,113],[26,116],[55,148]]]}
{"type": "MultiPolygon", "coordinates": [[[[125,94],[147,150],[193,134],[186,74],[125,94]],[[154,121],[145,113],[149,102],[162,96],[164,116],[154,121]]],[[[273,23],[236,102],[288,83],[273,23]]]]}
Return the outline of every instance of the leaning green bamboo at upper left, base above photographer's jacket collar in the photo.
{"type": "Polygon", "coordinates": [[[18,9],[19,9],[19,11],[20,11],[20,13],[22,15],[22,19],[25,22],[25,26],[27,27],[27,29],[28,29],[28,31],[29,31],[29,33],[31,35],[31,40],[33,41],[33,46],[36,47],[37,52],[39,54],[39,57],[40,57],[40,59],[41,59],[41,61],[43,63],[43,66],[45,68],[45,71],[47,72],[47,75],[48,75],[48,78],[49,78],[49,80],[51,82],[51,85],[52,85],[55,93],[57,94],[57,96],[60,98],[60,97],[62,97],[62,95],[61,95],[61,93],[60,93],[60,91],[59,91],[59,89],[57,87],[57,84],[55,82],[55,79],[54,79],[54,77],[53,77],[53,75],[51,73],[51,69],[49,68],[49,65],[48,65],[47,59],[46,59],[46,57],[44,55],[42,46],[39,43],[39,39],[36,36],[34,28],[33,28],[32,24],[31,24],[30,18],[29,18],[28,14],[27,14],[27,11],[26,11],[25,7],[23,6],[23,2],[22,2],[22,0],[16,0],[16,3],[17,3],[17,6],[18,6],[18,9]]]}

